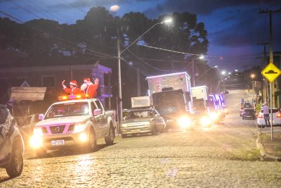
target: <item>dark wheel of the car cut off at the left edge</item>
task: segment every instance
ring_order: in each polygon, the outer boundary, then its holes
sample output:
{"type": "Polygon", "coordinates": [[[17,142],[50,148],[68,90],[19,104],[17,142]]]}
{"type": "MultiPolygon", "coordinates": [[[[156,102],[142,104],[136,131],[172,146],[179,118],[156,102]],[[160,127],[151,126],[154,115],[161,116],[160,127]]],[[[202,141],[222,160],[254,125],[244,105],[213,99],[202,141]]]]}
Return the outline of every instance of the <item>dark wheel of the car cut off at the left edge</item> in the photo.
{"type": "Polygon", "coordinates": [[[6,172],[10,177],[17,177],[21,175],[23,168],[22,147],[20,142],[16,141],[13,145],[11,154],[11,162],[6,167],[6,172]]]}

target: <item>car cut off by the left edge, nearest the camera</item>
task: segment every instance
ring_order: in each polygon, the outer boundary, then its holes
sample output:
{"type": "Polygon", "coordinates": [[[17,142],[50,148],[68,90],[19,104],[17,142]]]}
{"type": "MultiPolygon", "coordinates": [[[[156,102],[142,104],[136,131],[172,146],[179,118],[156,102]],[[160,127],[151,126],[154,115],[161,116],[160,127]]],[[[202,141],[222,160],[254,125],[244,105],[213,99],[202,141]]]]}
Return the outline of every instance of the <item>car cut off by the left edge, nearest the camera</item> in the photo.
{"type": "Polygon", "coordinates": [[[0,168],[6,168],[10,177],[21,175],[24,150],[15,118],[6,106],[0,104],[0,168]]]}

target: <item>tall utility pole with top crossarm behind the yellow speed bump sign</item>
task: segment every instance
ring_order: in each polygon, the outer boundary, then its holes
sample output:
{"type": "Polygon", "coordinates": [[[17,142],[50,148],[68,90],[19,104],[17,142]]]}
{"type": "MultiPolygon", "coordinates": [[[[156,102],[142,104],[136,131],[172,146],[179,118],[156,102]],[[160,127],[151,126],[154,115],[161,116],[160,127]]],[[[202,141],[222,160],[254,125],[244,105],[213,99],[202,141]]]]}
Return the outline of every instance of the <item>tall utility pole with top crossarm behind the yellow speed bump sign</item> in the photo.
{"type": "MultiPolygon", "coordinates": [[[[261,11],[259,10],[259,13],[269,13],[269,63],[273,63],[273,33],[272,33],[272,13],[280,13],[280,10],[276,11],[261,11]]],[[[271,140],[273,140],[273,94],[272,94],[272,85],[273,83],[270,82],[270,108],[271,108],[271,140]]]]}

